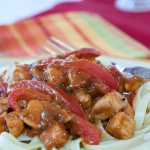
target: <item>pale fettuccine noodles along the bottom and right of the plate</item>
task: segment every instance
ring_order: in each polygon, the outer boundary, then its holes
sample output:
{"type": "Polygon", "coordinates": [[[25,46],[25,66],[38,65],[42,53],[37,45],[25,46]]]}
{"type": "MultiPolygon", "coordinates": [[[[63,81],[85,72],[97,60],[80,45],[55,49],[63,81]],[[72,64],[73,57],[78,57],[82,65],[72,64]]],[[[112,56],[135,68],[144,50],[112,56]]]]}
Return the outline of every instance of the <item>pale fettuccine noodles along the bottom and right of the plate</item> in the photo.
{"type": "MultiPolygon", "coordinates": [[[[136,123],[134,135],[128,140],[119,140],[111,136],[104,129],[101,121],[98,128],[102,130],[102,139],[98,145],[84,143],[82,138],[69,139],[60,150],[148,150],[150,144],[150,81],[144,83],[137,91],[133,100],[136,123]]],[[[0,134],[0,150],[46,150],[39,137],[29,138],[24,134],[15,138],[13,135],[2,132],[0,134]]],[[[52,150],[56,150],[53,148],[52,150]]]]}

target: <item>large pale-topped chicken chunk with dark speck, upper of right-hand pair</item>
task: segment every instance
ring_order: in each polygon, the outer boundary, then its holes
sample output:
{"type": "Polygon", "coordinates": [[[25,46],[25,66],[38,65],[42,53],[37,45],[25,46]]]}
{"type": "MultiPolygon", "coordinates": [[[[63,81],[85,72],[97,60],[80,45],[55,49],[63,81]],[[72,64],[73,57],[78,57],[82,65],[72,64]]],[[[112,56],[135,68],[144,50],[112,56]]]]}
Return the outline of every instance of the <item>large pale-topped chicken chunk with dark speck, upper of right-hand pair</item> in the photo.
{"type": "Polygon", "coordinates": [[[91,114],[95,118],[107,120],[116,112],[127,106],[127,99],[119,92],[111,91],[101,97],[92,107],[91,114]]]}

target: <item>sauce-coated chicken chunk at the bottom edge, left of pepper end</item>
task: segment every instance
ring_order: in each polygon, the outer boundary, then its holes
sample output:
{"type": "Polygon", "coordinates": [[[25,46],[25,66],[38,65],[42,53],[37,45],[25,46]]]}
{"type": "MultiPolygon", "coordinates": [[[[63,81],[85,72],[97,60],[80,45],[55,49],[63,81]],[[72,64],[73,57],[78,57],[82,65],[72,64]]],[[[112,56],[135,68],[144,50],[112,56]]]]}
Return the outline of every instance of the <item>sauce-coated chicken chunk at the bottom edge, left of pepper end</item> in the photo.
{"type": "Polygon", "coordinates": [[[45,144],[45,147],[50,150],[53,147],[60,148],[64,146],[69,139],[69,135],[64,125],[53,124],[51,127],[43,131],[40,135],[40,139],[45,144]]]}

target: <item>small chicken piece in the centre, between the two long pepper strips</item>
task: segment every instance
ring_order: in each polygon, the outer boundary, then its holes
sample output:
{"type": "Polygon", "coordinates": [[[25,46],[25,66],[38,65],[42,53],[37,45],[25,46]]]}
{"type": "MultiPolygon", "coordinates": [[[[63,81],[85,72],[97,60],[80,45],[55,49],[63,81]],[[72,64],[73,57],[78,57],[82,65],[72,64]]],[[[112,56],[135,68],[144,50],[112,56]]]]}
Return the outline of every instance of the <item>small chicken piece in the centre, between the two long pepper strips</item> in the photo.
{"type": "Polygon", "coordinates": [[[91,96],[84,89],[76,90],[73,97],[84,107],[89,107],[91,105],[91,96]]]}

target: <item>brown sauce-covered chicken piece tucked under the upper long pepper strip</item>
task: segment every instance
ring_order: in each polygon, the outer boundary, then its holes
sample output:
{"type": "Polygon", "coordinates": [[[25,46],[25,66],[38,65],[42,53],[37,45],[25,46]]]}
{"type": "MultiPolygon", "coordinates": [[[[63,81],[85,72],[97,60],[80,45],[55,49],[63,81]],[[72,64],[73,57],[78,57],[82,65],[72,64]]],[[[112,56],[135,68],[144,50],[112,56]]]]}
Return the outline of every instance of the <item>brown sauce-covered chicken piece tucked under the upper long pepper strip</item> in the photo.
{"type": "Polygon", "coordinates": [[[69,88],[75,90],[77,88],[87,87],[91,83],[91,76],[85,72],[70,69],[68,73],[69,88]]]}

